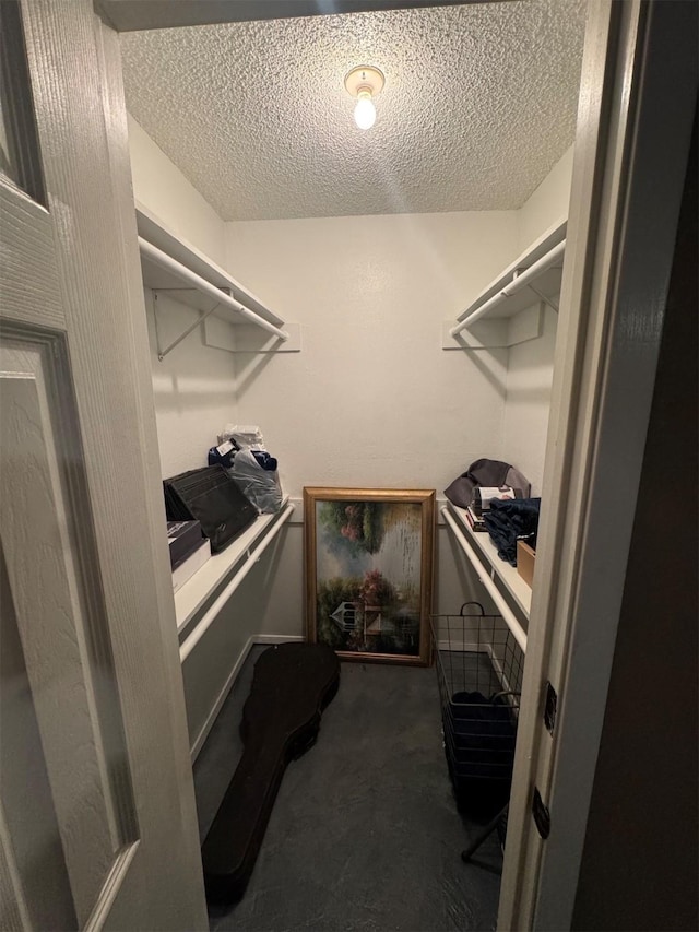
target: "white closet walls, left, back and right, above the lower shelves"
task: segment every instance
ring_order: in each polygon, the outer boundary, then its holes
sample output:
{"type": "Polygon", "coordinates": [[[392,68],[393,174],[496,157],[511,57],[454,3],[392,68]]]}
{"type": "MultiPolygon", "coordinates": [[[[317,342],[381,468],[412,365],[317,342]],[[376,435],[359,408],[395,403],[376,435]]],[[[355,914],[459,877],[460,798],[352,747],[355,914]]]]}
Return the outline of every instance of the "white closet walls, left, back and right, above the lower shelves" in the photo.
{"type": "MultiPolygon", "coordinates": [[[[541,489],[550,312],[509,358],[443,353],[439,323],[567,212],[572,148],[520,211],[224,223],[132,118],[129,133],[137,200],[303,328],[300,354],[234,357],[194,331],[158,363],[146,294],[164,474],[203,462],[238,420],[260,423],[294,496],[313,483],[441,492],[484,455],[541,489]]],[[[192,319],[158,307],[166,329],[192,319]]]]}

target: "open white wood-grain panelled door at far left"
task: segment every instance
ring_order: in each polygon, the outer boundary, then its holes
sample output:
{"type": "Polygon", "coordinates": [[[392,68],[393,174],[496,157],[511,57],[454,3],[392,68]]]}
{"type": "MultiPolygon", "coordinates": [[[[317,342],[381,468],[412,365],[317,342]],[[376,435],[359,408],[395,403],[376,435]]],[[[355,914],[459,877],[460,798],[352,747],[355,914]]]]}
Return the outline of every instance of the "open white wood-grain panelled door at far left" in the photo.
{"type": "Polygon", "coordinates": [[[205,928],[116,34],[0,11],[0,928],[205,928]]]}

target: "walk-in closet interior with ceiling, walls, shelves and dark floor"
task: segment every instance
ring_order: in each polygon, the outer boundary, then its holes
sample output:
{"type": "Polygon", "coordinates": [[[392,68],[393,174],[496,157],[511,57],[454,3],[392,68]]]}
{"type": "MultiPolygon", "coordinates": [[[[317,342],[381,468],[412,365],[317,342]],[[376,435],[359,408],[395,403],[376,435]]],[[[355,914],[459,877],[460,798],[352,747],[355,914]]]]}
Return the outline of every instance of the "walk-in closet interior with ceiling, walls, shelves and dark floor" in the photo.
{"type": "MultiPolygon", "coordinates": [[[[437,492],[434,665],[343,663],[318,746],[287,770],[242,901],[214,905],[216,928],[496,921],[506,819],[485,863],[460,853],[507,791],[469,807],[473,786],[499,783],[470,782],[449,723],[476,686],[519,703],[531,580],[443,489],[485,457],[541,496],[585,9],[121,36],[163,477],[204,465],[226,424],[251,424],[285,495],[175,593],[202,842],[254,659],[307,635],[304,487],[437,492]],[[384,82],[368,130],[344,83],[363,63],[384,82]]],[[[511,766],[513,738],[493,741],[478,774],[511,766]]]]}

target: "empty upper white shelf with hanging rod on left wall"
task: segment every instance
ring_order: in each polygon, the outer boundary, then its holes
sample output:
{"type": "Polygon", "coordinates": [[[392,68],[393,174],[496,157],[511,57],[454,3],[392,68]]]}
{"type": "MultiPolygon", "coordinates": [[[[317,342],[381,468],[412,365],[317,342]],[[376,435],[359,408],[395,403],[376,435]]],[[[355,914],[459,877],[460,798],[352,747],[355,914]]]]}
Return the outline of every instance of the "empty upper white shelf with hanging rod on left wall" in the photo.
{"type": "MultiPolygon", "coordinates": [[[[205,279],[210,284],[215,285],[217,288],[226,288],[227,293],[235,300],[254,311],[254,314],[263,320],[266,320],[269,323],[273,323],[275,327],[284,326],[282,318],[274,314],[274,311],[270,310],[269,307],[265,307],[265,305],[262,304],[262,302],[253,295],[252,292],[248,291],[245,285],[241,285],[240,282],[236,281],[236,279],[229,275],[220,266],[216,266],[215,262],[212,262],[211,259],[204,256],[203,252],[200,252],[199,249],[190,243],[187,243],[187,240],[181,239],[171,233],[165,224],[156,217],[155,214],[151,213],[151,211],[143,207],[143,204],[137,203],[135,219],[139,236],[143,237],[143,239],[147,240],[152,246],[155,246],[157,249],[166,252],[171,259],[175,259],[181,266],[185,266],[200,278],[205,279]]],[[[176,275],[165,269],[162,269],[156,263],[151,262],[147,258],[141,258],[141,268],[143,270],[143,283],[149,288],[157,291],[178,291],[180,292],[178,300],[181,300],[182,304],[196,307],[198,310],[205,311],[212,307],[213,300],[211,297],[199,294],[193,288],[183,287],[182,282],[176,275]]],[[[215,311],[215,314],[227,320],[236,320],[234,311],[223,310],[215,311]]]]}

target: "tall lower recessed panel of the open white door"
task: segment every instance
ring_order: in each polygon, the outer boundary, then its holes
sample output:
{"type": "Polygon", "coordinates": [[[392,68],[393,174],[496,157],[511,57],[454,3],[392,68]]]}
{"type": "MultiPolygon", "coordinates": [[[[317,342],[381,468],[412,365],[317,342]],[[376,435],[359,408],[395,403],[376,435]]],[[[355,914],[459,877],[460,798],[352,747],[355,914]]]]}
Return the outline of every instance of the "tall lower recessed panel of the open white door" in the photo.
{"type": "MultiPolygon", "coordinates": [[[[78,919],[98,905],[135,813],[94,548],[80,546],[66,464],[81,451],[57,393],[62,340],[5,331],[0,359],[0,523],[12,603],[78,919]],[[60,441],[57,439],[60,437],[60,441]],[[81,553],[82,550],[82,553],[81,553]],[[86,567],[91,580],[81,573],[86,567]],[[90,571],[92,569],[92,571],[90,571]],[[91,598],[92,597],[92,598],[91,598]],[[95,612],[97,609],[97,612],[95,612]]],[[[62,365],[61,365],[62,364],[62,365]]],[[[62,405],[66,409],[67,405],[62,405]]],[[[87,532],[87,539],[90,538],[87,532]]]]}

